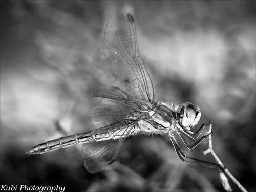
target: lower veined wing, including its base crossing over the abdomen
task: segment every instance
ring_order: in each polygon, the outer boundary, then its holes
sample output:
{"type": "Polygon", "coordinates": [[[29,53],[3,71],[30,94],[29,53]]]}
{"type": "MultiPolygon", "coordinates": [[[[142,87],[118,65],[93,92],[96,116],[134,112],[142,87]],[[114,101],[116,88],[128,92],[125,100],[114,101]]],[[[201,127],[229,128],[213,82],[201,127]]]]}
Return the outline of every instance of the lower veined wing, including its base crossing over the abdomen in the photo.
{"type": "Polygon", "coordinates": [[[94,141],[85,142],[82,145],[82,157],[84,166],[90,173],[99,172],[102,168],[113,163],[118,155],[121,145],[134,128],[134,123],[116,123],[109,125],[106,133],[93,133],[94,141]],[[108,132],[108,133],[107,133],[108,132]],[[104,140],[105,135],[113,135],[113,138],[104,140]]]}

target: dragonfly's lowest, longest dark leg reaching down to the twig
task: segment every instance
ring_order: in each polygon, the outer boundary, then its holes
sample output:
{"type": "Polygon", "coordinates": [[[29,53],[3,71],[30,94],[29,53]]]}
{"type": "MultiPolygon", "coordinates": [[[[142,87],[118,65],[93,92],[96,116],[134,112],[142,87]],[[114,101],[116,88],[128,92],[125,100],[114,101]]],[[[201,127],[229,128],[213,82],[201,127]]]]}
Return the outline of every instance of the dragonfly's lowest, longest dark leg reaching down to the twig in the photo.
{"type": "Polygon", "coordinates": [[[169,136],[170,136],[170,140],[172,141],[172,143],[174,145],[176,153],[178,154],[179,158],[182,161],[205,166],[205,167],[210,167],[210,168],[223,169],[220,165],[218,165],[216,163],[212,163],[209,161],[205,161],[205,160],[197,159],[195,157],[188,156],[187,154],[185,154],[185,152],[182,151],[182,149],[180,148],[180,146],[179,146],[178,142],[176,141],[175,137],[173,136],[173,134],[169,134],[169,136]]]}

